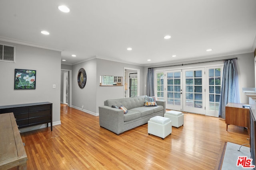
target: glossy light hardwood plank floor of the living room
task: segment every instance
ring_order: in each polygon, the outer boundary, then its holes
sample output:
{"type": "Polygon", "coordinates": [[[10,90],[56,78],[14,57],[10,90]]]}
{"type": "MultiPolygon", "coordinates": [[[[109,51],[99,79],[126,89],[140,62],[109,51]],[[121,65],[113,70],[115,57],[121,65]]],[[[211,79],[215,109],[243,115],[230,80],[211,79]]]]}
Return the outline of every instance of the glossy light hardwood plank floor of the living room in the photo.
{"type": "Polygon", "coordinates": [[[225,141],[248,143],[247,130],[223,119],[187,113],[184,126],[164,140],[144,124],[120,135],[100,127],[99,117],[61,104],[61,125],[21,133],[28,170],[218,168],[225,141]]]}

